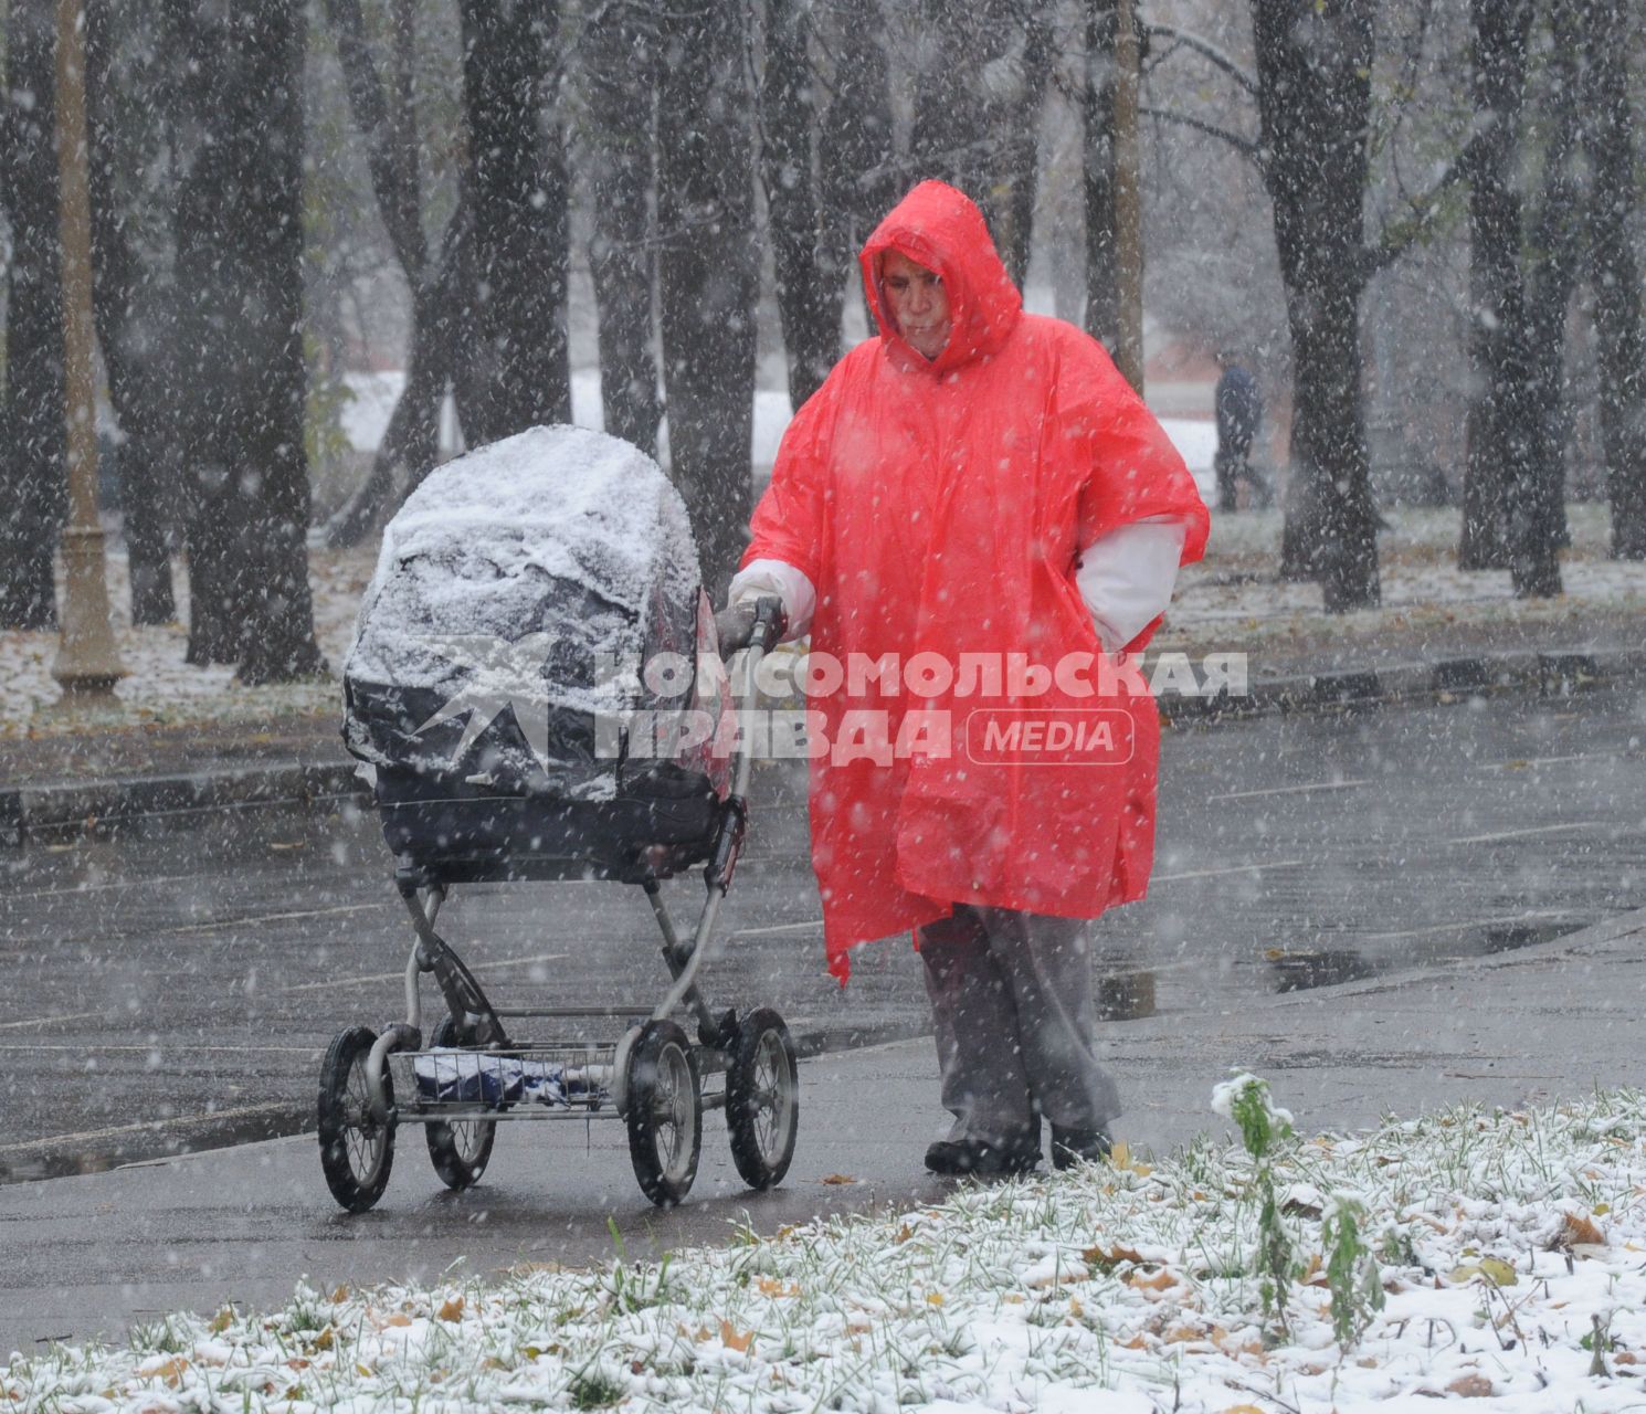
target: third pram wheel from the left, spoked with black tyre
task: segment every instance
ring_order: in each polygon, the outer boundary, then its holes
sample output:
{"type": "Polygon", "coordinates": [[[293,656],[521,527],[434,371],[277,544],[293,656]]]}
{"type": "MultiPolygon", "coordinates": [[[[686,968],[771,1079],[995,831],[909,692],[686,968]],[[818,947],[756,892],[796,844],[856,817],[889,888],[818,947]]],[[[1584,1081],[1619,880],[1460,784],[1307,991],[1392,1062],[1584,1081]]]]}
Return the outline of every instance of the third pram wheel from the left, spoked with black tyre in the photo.
{"type": "Polygon", "coordinates": [[[691,1042],[672,1021],[649,1021],[629,1052],[624,1086],[634,1177],[660,1208],[691,1190],[703,1149],[703,1081],[691,1042]]]}

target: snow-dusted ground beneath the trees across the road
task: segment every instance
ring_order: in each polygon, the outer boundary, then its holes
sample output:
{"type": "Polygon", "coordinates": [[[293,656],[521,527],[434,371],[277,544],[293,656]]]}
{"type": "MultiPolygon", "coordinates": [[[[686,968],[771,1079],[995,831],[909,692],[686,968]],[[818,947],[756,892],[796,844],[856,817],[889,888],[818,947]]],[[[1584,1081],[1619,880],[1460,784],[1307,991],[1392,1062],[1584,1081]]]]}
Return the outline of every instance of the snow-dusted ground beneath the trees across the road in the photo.
{"type": "MultiPolygon", "coordinates": [[[[1397,639],[1412,650],[1429,627],[1513,627],[1564,621],[1582,637],[1597,612],[1646,612],[1646,565],[1606,558],[1611,533],[1605,505],[1567,509],[1572,547],[1562,553],[1565,594],[1516,599],[1506,570],[1465,573],[1455,565],[1455,509],[1396,509],[1379,537],[1383,607],[1328,617],[1318,584],[1286,584],[1277,578],[1281,514],[1277,510],[1213,515],[1207,558],[1179,579],[1159,649],[1248,650],[1289,642],[1374,642],[1397,639]]],[[[117,543],[117,542],[112,542],[117,543]]],[[[313,550],[316,632],[332,678],[280,688],[240,688],[229,668],[193,668],[183,662],[188,635],[179,626],[132,629],[127,622],[127,565],[109,556],[110,594],[122,660],[130,673],[120,706],[102,713],[44,713],[58,700],[51,678],[56,634],[0,630],[0,737],[79,731],[86,726],[145,723],[267,721],[283,713],[341,711],[334,681],[354,630],[354,614],[372,574],[377,547],[336,553],[313,550]]],[[[174,576],[179,614],[188,612],[188,576],[174,576]]],[[[61,601],[61,586],[59,586],[61,601]]],[[[184,619],[186,621],[186,619],[184,619]]]]}

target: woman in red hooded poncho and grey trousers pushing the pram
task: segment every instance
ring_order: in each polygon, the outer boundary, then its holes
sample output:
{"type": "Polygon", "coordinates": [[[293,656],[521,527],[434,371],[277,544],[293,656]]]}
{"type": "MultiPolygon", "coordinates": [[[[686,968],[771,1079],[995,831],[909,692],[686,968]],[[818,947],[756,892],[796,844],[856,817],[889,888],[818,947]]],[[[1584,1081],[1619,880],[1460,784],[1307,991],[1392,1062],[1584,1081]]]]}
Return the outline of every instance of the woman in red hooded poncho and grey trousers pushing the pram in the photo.
{"type": "Polygon", "coordinates": [[[917,186],[863,249],[881,328],[783,436],[736,604],[811,635],[830,970],[914,928],[943,1105],[927,1167],[1108,1152],[1083,922],[1141,899],[1159,718],[1128,652],[1207,510],[1103,347],[1022,311],[983,216],[917,186]],[[836,681],[838,680],[838,681],[836,681]]]}

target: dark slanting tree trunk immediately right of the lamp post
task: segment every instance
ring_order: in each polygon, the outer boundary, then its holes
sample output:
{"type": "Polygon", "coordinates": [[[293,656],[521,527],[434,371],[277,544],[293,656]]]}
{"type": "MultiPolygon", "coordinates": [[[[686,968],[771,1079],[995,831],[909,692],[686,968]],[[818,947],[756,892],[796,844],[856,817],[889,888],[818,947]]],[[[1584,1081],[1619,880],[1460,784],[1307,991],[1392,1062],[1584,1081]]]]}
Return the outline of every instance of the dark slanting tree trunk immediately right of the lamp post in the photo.
{"type": "Polygon", "coordinates": [[[171,527],[174,497],[166,472],[176,463],[170,438],[170,398],[165,388],[166,308],[170,290],[140,277],[130,229],[137,214],[119,191],[123,160],[120,122],[114,110],[110,33],[112,0],[86,8],[86,87],[91,122],[92,250],[97,341],[109,374],[125,443],[120,446],[120,507],[125,519],[127,570],[133,624],[170,624],[178,617],[171,593],[171,527]]]}

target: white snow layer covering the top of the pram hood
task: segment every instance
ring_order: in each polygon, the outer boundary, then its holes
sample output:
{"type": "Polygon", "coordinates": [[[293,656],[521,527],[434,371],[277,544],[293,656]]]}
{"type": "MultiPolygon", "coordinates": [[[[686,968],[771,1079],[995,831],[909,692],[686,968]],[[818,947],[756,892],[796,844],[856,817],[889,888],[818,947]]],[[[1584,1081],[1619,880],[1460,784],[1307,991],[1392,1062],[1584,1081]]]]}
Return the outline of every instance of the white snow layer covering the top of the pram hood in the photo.
{"type": "MultiPolygon", "coordinates": [[[[346,672],[439,688],[461,672],[453,639],[507,645],[533,632],[576,632],[625,670],[593,688],[576,681],[581,675],[548,672],[550,705],[621,711],[632,705],[650,606],[658,594],[690,602],[698,584],[685,502],[655,461],[588,428],[532,428],[448,463],[400,507],[384,532],[346,672]],[[550,579],[581,586],[581,614],[542,622],[550,579]]],[[[464,667],[472,691],[487,658],[469,654],[464,667]]]]}

